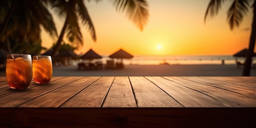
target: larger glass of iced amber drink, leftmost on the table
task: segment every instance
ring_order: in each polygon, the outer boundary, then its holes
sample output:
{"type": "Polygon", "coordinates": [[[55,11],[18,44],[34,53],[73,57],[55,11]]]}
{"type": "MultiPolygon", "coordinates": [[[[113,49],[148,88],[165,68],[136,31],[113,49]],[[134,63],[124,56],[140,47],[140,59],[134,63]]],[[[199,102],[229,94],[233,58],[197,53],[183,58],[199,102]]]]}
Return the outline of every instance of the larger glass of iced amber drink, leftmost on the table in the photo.
{"type": "Polygon", "coordinates": [[[26,89],[32,79],[32,60],[29,54],[8,54],[6,79],[13,89],[26,89]]]}

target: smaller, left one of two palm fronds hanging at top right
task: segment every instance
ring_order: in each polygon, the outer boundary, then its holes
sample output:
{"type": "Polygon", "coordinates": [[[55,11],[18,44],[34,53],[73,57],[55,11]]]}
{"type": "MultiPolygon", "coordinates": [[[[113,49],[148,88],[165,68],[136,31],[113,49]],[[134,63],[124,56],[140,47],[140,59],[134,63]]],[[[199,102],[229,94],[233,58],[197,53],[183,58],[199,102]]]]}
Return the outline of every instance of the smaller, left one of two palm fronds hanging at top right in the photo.
{"type": "Polygon", "coordinates": [[[210,15],[210,17],[213,17],[217,15],[221,8],[221,4],[225,1],[226,0],[211,0],[204,15],[204,22],[206,21],[207,16],[210,15]]]}

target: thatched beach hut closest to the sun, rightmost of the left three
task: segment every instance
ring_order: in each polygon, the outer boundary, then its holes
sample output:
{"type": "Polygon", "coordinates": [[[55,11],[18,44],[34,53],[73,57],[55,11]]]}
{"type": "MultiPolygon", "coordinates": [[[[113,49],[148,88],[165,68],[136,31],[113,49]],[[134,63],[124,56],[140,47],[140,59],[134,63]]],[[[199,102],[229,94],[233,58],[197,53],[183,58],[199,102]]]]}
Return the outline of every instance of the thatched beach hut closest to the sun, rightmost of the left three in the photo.
{"type": "Polygon", "coordinates": [[[119,49],[117,52],[111,54],[108,57],[109,58],[119,58],[119,59],[121,59],[120,63],[118,63],[118,62],[116,63],[116,67],[119,68],[119,69],[124,68],[123,58],[133,58],[133,56],[131,54],[124,51],[123,49],[119,49]]]}

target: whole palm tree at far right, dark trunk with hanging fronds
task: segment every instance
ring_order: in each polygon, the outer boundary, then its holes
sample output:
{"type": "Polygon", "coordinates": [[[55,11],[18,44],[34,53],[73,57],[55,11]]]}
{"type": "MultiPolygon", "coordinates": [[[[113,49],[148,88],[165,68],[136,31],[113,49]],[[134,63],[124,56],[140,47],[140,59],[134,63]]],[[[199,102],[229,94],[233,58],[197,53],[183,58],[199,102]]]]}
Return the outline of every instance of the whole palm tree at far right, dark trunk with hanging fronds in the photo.
{"type": "MultiPolygon", "coordinates": [[[[211,0],[207,7],[204,21],[206,21],[207,16],[215,16],[218,14],[218,11],[227,0],[211,0]]],[[[227,12],[227,18],[229,21],[229,27],[231,30],[234,27],[239,27],[240,23],[243,21],[243,17],[249,10],[249,7],[253,8],[253,19],[252,19],[252,32],[250,36],[249,49],[246,54],[245,65],[243,68],[243,76],[250,76],[250,69],[252,64],[252,55],[254,52],[255,40],[256,40],[256,8],[255,0],[233,0],[233,3],[229,7],[227,12]]]]}

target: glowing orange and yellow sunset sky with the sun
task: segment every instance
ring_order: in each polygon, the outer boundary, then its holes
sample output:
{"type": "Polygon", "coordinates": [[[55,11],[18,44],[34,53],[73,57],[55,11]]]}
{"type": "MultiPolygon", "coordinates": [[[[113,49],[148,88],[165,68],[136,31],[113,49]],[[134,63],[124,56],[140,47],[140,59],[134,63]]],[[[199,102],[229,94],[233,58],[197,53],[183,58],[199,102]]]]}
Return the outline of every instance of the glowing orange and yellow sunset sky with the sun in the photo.
{"type": "MultiPolygon", "coordinates": [[[[101,55],[109,55],[119,48],[133,55],[232,55],[249,45],[252,9],[239,28],[233,31],[227,23],[229,1],[218,15],[204,23],[209,0],[147,0],[149,19],[140,31],[125,13],[115,11],[108,0],[85,2],[96,29],[94,42],[85,26],[81,26],[84,44],[77,54],[90,48],[101,55]]],[[[54,16],[58,34],[63,21],[54,16]]],[[[56,39],[57,40],[57,39],[56,39]]],[[[53,42],[45,31],[42,45],[49,48],[53,42]]]]}

